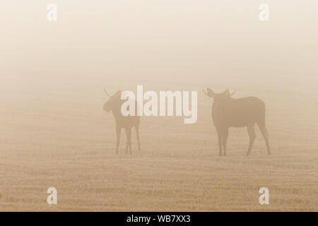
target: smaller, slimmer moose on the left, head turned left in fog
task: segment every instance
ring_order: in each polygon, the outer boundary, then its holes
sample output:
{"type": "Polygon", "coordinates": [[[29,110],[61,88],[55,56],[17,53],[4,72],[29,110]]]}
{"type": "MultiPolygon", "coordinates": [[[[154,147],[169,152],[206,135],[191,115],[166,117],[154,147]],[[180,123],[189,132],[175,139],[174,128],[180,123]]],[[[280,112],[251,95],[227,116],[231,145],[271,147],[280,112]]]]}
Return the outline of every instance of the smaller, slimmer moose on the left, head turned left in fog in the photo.
{"type": "MultiPolygon", "coordinates": [[[[103,109],[106,112],[112,111],[114,114],[115,124],[116,124],[116,135],[117,135],[117,145],[116,145],[116,154],[118,154],[119,142],[120,142],[120,133],[122,128],[126,131],[126,154],[129,148],[131,154],[131,128],[135,127],[137,141],[138,141],[138,148],[140,148],[139,142],[139,116],[123,116],[121,112],[121,106],[126,100],[121,99],[122,92],[117,91],[114,95],[108,95],[107,91],[104,90],[105,94],[110,97],[103,109]]],[[[135,114],[136,115],[136,114],[135,114]]]]}

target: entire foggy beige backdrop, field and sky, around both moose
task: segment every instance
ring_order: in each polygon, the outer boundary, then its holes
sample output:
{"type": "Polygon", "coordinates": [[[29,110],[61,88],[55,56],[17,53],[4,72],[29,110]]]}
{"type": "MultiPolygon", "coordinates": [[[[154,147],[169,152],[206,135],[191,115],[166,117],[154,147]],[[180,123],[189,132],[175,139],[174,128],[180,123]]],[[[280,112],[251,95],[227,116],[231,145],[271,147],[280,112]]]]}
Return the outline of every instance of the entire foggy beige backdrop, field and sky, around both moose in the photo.
{"type": "Polygon", "coordinates": [[[318,1],[1,1],[0,210],[318,210],[318,1]],[[57,4],[56,22],[47,4],[57,4]],[[198,90],[198,121],[141,118],[141,152],[114,154],[117,90],[198,90]],[[266,102],[218,157],[212,100],[266,102]],[[45,193],[58,191],[58,205],[45,193]],[[259,204],[258,189],[270,191],[259,204]]]}

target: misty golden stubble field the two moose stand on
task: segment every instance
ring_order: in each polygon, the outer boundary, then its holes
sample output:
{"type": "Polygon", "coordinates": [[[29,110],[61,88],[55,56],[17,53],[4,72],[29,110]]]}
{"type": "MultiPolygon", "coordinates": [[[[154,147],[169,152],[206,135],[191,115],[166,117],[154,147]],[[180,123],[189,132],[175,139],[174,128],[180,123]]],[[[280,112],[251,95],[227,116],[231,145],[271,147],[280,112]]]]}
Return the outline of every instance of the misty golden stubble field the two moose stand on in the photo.
{"type": "MultiPolygon", "coordinates": [[[[115,155],[114,119],[102,112],[102,85],[42,83],[37,90],[11,88],[18,97],[1,97],[1,211],[318,210],[317,106],[307,98],[314,93],[238,87],[236,97],[266,102],[273,155],[256,127],[252,155],[246,156],[249,138],[241,128],[230,129],[228,156],[219,157],[212,100],[201,85],[182,86],[199,91],[196,124],[142,117],[141,151],[133,131],[133,155],[124,154],[122,131],[115,155]],[[46,201],[51,186],[56,206],[46,201]],[[261,187],[269,188],[269,205],[259,204],[261,187]]],[[[118,84],[109,87],[114,93],[118,84]]],[[[178,89],[146,86],[154,87],[178,89]]]]}

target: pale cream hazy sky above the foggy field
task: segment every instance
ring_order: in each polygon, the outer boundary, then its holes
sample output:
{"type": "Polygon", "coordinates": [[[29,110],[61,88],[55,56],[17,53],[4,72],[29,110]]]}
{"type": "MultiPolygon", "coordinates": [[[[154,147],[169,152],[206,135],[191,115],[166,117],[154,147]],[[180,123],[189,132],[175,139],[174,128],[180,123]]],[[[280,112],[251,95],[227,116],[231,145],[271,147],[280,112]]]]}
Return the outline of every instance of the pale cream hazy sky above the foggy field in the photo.
{"type": "Polygon", "coordinates": [[[316,0],[11,0],[0,7],[1,76],[293,79],[318,72],[316,0]],[[268,22],[259,21],[264,2],[268,22]],[[58,6],[57,22],[47,21],[49,3],[58,6]]]}

